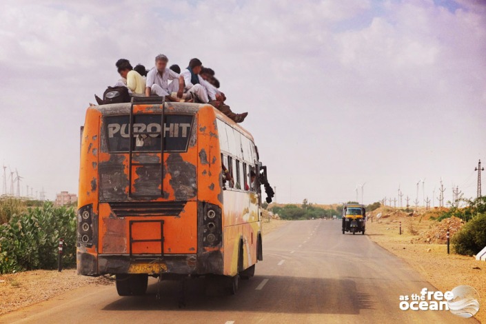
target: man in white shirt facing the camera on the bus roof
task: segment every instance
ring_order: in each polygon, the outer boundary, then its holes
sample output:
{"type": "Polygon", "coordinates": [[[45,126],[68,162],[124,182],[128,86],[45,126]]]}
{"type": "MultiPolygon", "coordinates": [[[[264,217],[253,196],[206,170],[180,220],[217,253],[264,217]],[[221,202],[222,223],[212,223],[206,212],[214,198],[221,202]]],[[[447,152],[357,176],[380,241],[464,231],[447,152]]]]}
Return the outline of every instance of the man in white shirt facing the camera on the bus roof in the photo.
{"type": "Polygon", "coordinates": [[[160,97],[168,97],[179,90],[179,74],[167,68],[169,59],[164,54],[155,57],[155,66],[147,73],[145,96],[152,93],[160,97]],[[169,80],[174,80],[169,84],[169,80]]]}

